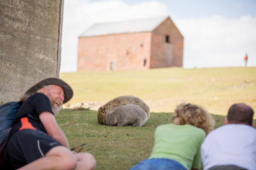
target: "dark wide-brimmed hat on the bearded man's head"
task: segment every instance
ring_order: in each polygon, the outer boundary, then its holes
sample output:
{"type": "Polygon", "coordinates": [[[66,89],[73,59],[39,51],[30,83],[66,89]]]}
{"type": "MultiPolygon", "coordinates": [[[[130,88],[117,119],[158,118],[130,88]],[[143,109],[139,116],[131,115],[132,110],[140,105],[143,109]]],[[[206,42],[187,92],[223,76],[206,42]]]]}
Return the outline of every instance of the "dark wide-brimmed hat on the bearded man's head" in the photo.
{"type": "Polygon", "coordinates": [[[40,82],[33,85],[31,88],[26,91],[25,94],[27,95],[33,95],[38,91],[40,88],[47,86],[47,85],[58,85],[63,88],[64,90],[64,103],[67,103],[72,97],[73,97],[73,90],[72,88],[63,80],[57,78],[57,77],[49,77],[47,79],[41,80],[40,82]]]}

